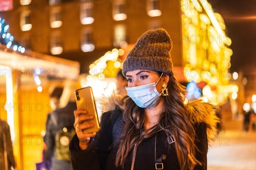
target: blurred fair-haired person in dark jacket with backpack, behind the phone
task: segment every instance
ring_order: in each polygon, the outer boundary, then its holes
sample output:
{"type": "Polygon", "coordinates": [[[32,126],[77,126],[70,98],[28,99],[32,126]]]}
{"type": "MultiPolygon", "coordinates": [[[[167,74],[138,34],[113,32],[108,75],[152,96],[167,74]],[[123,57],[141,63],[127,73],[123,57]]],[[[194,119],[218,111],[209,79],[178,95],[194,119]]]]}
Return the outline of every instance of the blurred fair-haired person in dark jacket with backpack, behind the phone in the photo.
{"type": "Polygon", "coordinates": [[[44,142],[47,145],[47,158],[51,159],[51,170],[72,170],[68,145],[75,133],[75,90],[73,82],[66,82],[59,98],[59,107],[47,116],[44,142]]]}

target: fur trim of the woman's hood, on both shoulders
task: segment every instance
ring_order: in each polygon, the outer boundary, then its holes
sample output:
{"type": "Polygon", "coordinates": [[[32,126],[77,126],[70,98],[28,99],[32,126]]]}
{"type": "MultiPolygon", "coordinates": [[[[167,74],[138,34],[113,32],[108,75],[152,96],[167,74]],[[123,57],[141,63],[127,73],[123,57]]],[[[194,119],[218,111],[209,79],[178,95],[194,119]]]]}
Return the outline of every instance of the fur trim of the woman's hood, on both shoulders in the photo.
{"type": "MultiPolygon", "coordinates": [[[[102,100],[102,105],[108,107],[102,108],[102,113],[120,108],[123,110],[122,96],[113,93],[111,96],[105,96],[102,100]]],[[[207,137],[210,144],[217,134],[217,123],[220,122],[215,114],[215,108],[212,104],[203,102],[202,100],[194,100],[185,105],[185,109],[193,123],[204,122],[207,125],[207,137]]]]}

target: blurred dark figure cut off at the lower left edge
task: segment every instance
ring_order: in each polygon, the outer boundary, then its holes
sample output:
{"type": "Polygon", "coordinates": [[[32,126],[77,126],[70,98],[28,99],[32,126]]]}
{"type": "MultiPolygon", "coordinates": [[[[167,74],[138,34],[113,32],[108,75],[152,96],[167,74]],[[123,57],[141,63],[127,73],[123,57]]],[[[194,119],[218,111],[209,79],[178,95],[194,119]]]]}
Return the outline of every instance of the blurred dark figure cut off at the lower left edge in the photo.
{"type": "Polygon", "coordinates": [[[0,170],[11,170],[15,168],[15,159],[12,149],[10,127],[8,123],[0,119],[0,170]]]}

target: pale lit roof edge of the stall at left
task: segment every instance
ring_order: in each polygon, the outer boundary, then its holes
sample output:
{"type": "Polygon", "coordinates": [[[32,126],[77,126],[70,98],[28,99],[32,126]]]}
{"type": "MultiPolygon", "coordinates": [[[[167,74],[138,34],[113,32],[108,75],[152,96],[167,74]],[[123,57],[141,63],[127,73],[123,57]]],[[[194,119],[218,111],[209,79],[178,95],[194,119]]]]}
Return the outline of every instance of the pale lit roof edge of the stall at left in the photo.
{"type": "Polygon", "coordinates": [[[20,53],[6,48],[3,44],[0,44],[0,65],[24,70],[39,68],[52,75],[58,73],[60,79],[78,79],[80,71],[79,62],[29,50],[20,53]]]}

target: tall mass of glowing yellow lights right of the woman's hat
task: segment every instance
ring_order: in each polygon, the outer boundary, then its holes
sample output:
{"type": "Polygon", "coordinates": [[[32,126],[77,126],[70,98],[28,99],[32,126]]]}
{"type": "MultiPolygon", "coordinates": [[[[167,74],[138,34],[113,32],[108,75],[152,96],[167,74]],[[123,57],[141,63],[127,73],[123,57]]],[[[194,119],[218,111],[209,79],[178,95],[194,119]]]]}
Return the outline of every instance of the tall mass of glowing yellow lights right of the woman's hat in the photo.
{"type": "Polygon", "coordinates": [[[220,14],[203,0],[182,0],[184,74],[188,82],[203,83],[204,97],[210,102],[223,102],[236,85],[228,85],[231,40],[225,35],[220,14]]]}

